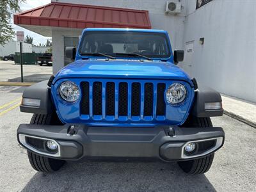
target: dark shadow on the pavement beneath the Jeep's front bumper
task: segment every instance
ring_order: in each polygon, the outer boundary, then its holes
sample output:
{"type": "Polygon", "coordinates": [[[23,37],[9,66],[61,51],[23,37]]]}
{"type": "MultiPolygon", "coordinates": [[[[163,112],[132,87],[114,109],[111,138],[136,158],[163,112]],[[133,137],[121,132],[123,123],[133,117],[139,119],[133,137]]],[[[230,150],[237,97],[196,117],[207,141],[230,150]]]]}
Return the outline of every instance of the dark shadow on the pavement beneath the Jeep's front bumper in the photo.
{"type": "Polygon", "coordinates": [[[205,175],[186,175],[176,163],[68,162],[56,173],[37,172],[22,191],[216,191],[205,175]]]}

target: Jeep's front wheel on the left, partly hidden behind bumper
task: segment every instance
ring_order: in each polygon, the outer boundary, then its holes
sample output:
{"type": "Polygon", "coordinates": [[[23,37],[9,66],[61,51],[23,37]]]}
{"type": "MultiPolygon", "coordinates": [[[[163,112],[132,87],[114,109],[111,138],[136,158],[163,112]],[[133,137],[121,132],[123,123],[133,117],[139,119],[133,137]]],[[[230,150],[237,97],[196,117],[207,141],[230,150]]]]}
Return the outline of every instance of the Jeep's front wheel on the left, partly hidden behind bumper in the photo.
{"type": "MultiPolygon", "coordinates": [[[[60,124],[60,120],[56,114],[42,115],[34,114],[31,118],[30,124],[36,125],[56,125],[60,124]]],[[[52,159],[49,157],[39,156],[28,150],[28,159],[31,166],[38,172],[55,172],[60,170],[65,163],[63,160],[52,159]]]]}

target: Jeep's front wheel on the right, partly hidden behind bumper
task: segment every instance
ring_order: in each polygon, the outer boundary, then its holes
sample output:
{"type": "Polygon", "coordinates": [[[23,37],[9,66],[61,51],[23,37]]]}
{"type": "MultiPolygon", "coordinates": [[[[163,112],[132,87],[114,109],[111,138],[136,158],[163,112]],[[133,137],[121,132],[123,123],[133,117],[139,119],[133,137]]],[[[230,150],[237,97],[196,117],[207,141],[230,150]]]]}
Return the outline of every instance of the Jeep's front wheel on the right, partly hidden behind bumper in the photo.
{"type": "MultiPolygon", "coordinates": [[[[184,125],[186,125],[186,127],[212,127],[212,122],[211,118],[209,117],[197,118],[195,116],[189,116],[187,122],[184,125]]],[[[211,168],[213,159],[214,153],[199,159],[179,161],[178,164],[180,168],[186,173],[193,175],[204,174],[211,168]]]]}

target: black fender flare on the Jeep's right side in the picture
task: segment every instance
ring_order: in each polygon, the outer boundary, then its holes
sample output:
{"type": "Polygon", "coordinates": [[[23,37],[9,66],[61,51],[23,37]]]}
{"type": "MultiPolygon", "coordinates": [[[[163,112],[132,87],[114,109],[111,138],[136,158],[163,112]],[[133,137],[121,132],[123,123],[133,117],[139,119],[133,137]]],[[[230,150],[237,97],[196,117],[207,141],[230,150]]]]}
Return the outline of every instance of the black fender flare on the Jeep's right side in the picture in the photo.
{"type": "Polygon", "coordinates": [[[222,102],[221,95],[216,90],[209,88],[204,85],[198,85],[198,89],[195,90],[195,100],[191,113],[197,117],[208,117],[208,116],[222,116],[223,108],[205,110],[205,102],[222,102]]]}

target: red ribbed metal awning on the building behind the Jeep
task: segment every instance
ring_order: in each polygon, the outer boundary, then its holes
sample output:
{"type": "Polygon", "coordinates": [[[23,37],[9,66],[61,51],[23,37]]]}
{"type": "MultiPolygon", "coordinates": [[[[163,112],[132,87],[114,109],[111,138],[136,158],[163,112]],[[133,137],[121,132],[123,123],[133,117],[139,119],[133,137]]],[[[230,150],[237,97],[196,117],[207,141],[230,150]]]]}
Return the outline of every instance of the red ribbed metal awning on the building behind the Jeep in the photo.
{"type": "Polygon", "coordinates": [[[145,10],[70,3],[50,3],[15,14],[14,24],[60,28],[151,28],[145,10]]]}

